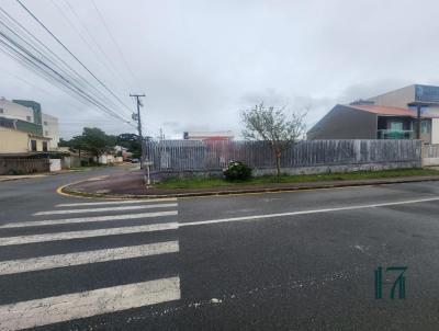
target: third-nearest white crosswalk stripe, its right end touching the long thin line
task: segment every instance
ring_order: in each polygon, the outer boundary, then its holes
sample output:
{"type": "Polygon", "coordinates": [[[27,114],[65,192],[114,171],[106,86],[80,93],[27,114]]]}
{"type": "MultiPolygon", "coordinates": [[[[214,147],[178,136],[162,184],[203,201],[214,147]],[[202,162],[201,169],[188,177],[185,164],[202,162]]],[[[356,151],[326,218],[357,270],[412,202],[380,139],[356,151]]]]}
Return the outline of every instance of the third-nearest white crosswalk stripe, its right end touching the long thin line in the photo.
{"type": "Polygon", "coordinates": [[[44,242],[44,241],[56,241],[56,240],[68,240],[78,238],[92,238],[92,237],[104,237],[114,235],[127,235],[137,232],[151,232],[161,230],[172,230],[178,228],[178,222],[164,222],[164,224],[151,224],[136,227],[123,227],[123,228],[109,228],[98,230],[86,230],[86,231],[70,231],[70,232],[57,232],[57,233],[44,233],[44,235],[31,235],[31,236],[19,236],[19,237],[4,237],[0,238],[0,246],[10,244],[24,244],[31,242],[44,242]]]}

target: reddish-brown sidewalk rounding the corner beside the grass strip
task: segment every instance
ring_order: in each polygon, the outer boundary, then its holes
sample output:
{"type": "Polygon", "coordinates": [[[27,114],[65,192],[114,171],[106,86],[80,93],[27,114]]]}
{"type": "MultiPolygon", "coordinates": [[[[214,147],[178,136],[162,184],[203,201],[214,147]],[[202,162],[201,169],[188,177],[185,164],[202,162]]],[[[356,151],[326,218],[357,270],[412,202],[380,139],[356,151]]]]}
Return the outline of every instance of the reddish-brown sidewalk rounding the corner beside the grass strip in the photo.
{"type": "Polygon", "coordinates": [[[243,193],[288,192],[299,190],[331,189],[361,185],[383,185],[395,183],[439,181],[439,175],[399,176],[390,179],[338,180],[302,183],[232,184],[209,189],[147,189],[140,171],[115,173],[92,178],[61,187],[61,192],[79,196],[95,197],[184,197],[204,195],[227,195],[243,193]]]}

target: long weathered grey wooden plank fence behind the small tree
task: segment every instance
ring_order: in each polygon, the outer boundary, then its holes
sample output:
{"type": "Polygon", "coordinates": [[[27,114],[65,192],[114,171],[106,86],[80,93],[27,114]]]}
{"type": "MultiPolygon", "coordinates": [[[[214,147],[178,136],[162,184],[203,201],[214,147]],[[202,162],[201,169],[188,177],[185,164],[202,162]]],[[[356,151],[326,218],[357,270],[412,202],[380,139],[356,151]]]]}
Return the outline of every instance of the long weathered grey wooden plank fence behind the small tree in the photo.
{"type": "MultiPolygon", "coordinates": [[[[254,169],[274,169],[270,147],[260,141],[162,140],[146,142],[153,171],[221,170],[230,160],[254,169]]],[[[305,140],[285,150],[282,168],[419,162],[419,140],[305,140]]],[[[395,166],[394,168],[397,168],[395,166]]]]}

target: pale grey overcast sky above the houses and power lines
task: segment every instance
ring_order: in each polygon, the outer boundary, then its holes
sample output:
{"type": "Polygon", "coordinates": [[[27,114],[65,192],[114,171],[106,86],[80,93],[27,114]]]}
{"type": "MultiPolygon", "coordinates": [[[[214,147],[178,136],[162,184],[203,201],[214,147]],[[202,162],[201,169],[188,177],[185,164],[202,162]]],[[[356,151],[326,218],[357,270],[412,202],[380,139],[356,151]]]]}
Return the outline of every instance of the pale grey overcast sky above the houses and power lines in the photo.
{"type": "MultiPolygon", "coordinates": [[[[160,127],[173,138],[184,130],[238,135],[239,111],[262,101],[308,107],[311,126],[336,103],[439,83],[438,1],[94,1],[122,55],[89,0],[23,3],[133,110],[130,92],[146,93],[144,129],[150,136],[160,127]]],[[[15,1],[0,3],[75,62],[15,1]]],[[[134,130],[2,53],[0,69],[0,96],[41,102],[43,112],[59,117],[61,137],[83,126],[134,130]]]]}

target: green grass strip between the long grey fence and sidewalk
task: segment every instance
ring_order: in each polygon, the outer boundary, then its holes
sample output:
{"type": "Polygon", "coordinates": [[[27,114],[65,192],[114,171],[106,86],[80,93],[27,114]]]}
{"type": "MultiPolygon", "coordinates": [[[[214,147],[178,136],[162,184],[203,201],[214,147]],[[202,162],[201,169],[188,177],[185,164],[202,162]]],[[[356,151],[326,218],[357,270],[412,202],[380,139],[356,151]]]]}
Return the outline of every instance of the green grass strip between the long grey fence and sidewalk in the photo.
{"type": "Polygon", "coordinates": [[[157,189],[209,189],[233,185],[252,185],[267,183],[300,183],[319,181],[350,181],[364,179],[385,179],[412,175],[439,175],[439,170],[434,169],[397,169],[382,171],[358,171],[350,173],[325,173],[325,174],[303,174],[303,175],[262,175],[251,178],[246,182],[228,182],[216,178],[191,178],[191,179],[168,179],[157,184],[157,189]]]}

